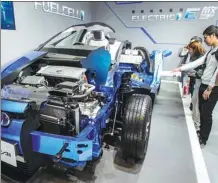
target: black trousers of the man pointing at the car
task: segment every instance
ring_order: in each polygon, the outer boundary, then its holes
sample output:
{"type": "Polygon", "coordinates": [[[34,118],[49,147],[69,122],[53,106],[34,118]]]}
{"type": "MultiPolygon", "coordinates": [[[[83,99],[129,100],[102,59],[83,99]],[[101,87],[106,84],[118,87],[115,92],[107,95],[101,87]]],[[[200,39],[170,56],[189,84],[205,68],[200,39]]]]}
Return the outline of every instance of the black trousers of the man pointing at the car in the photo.
{"type": "Polygon", "coordinates": [[[218,86],[215,86],[210,94],[208,100],[204,100],[203,93],[207,89],[207,85],[201,84],[199,89],[199,110],[200,110],[200,138],[203,142],[207,142],[211,127],[212,127],[212,113],[218,101],[218,86]]]}

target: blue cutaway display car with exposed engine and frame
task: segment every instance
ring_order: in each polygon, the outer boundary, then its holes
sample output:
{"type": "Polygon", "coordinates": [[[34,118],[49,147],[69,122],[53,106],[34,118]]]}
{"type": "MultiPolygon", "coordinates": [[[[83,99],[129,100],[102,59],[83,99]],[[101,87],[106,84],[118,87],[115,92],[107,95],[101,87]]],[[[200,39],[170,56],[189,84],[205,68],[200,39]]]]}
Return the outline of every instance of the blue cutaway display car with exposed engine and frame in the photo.
{"type": "Polygon", "coordinates": [[[45,162],[69,173],[121,141],[123,158],[146,155],[163,57],[110,38],[104,23],[75,25],[1,72],[1,162],[31,175],[45,162]],[[113,139],[113,140],[111,140],[113,139]]]}

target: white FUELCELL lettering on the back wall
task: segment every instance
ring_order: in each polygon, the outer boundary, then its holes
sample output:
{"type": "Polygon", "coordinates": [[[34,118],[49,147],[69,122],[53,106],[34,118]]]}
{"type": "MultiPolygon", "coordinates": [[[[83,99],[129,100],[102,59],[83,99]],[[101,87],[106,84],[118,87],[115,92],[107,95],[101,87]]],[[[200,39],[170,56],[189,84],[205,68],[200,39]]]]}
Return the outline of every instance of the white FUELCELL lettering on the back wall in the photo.
{"type": "Polygon", "coordinates": [[[53,13],[78,20],[84,20],[85,12],[67,6],[61,6],[55,2],[35,2],[34,9],[41,8],[46,13],[53,13]]]}

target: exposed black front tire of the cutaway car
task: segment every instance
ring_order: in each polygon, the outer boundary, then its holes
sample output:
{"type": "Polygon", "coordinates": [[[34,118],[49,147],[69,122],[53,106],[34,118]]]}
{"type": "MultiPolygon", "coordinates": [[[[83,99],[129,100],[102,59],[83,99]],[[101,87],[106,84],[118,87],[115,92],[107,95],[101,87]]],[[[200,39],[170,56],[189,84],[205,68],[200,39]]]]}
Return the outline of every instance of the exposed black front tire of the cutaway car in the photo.
{"type": "Polygon", "coordinates": [[[124,111],[123,158],[142,160],[146,156],[150,136],[152,99],[148,95],[134,94],[127,100],[124,111]]]}

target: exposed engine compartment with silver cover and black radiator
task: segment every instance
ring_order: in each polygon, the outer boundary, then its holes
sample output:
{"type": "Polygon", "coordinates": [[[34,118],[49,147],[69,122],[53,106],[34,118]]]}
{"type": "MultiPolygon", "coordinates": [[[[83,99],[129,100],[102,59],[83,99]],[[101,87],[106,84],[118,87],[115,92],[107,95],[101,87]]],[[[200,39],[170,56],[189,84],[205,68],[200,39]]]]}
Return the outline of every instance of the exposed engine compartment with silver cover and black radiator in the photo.
{"type": "Polygon", "coordinates": [[[76,136],[87,125],[82,119],[95,118],[102,107],[102,94],[94,89],[85,68],[38,62],[22,69],[12,84],[4,85],[1,98],[36,102],[40,131],[76,136]]]}

